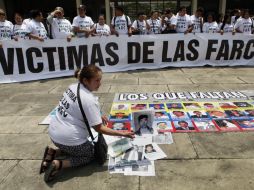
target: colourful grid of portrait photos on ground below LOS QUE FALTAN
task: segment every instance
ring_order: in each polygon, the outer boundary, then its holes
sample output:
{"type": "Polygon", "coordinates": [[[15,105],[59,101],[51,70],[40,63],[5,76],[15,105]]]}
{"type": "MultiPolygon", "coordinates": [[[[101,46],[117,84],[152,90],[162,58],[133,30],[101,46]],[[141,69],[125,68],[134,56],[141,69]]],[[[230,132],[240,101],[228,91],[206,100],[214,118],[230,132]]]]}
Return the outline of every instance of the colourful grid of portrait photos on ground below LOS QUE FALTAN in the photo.
{"type": "Polygon", "coordinates": [[[254,130],[254,102],[113,103],[109,120],[110,125],[121,123],[123,129],[133,130],[136,135],[251,131],[254,130]]]}

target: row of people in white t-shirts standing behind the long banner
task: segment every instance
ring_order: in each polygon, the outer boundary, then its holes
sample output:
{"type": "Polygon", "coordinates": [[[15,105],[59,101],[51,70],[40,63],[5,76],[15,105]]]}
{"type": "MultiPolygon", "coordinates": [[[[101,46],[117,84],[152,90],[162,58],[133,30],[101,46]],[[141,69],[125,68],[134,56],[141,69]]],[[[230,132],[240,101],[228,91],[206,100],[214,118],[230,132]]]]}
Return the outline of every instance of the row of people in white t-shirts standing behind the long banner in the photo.
{"type": "Polygon", "coordinates": [[[98,23],[94,23],[91,17],[86,15],[86,6],[78,7],[78,16],[72,24],[64,18],[64,10],[56,7],[47,17],[47,27],[43,24],[42,12],[30,11],[30,18],[24,19],[21,14],[15,13],[15,24],[6,20],[6,14],[0,9],[0,41],[35,39],[66,39],[71,41],[73,37],[83,38],[91,36],[109,35],[147,35],[169,33],[243,33],[253,34],[254,21],[247,9],[234,10],[233,14],[216,17],[213,13],[204,14],[202,8],[198,8],[194,15],[188,15],[186,7],[181,7],[174,14],[171,9],[166,9],[163,14],[152,11],[150,18],[145,13],[138,13],[137,19],[132,23],[129,16],[124,14],[122,7],[115,8],[115,16],[110,26],[105,24],[105,16],[100,15],[98,23]],[[206,16],[204,16],[206,15],[206,16]]]}

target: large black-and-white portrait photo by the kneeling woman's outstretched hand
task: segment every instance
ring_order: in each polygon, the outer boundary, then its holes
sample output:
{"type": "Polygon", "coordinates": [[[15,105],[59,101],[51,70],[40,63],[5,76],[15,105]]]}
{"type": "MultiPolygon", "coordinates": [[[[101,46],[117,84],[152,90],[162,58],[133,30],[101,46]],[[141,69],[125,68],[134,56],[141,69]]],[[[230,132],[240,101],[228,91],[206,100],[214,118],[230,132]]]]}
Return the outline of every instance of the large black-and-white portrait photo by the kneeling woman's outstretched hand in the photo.
{"type": "Polygon", "coordinates": [[[133,112],[132,114],[136,135],[153,134],[153,111],[133,112]]]}

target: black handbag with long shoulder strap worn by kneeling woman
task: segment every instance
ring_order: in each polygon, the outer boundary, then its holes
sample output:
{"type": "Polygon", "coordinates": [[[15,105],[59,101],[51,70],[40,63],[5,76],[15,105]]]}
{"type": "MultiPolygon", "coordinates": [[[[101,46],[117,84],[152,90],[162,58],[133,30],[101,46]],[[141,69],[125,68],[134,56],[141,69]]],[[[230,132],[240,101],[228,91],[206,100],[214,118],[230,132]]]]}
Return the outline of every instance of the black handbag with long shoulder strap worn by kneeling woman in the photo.
{"type": "Polygon", "coordinates": [[[89,132],[89,135],[92,139],[92,142],[94,144],[94,156],[95,156],[95,160],[98,162],[98,164],[103,165],[106,160],[107,160],[107,153],[108,153],[108,145],[102,135],[102,133],[98,133],[98,138],[97,141],[95,141],[95,138],[92,134],[92,131],[90,129],[89,123],[87,121],[87,117],[86,114],[84,112],[82,103],[81,103],[81,99],[80,99],[80,83],[78,83],[78,89],[77,89],[77,99],[78,99],[78,104],[79,104],[79,108],[80,111],[83,115],[84,118],[84,122],[86,124],[87,130],[89,132]]]}

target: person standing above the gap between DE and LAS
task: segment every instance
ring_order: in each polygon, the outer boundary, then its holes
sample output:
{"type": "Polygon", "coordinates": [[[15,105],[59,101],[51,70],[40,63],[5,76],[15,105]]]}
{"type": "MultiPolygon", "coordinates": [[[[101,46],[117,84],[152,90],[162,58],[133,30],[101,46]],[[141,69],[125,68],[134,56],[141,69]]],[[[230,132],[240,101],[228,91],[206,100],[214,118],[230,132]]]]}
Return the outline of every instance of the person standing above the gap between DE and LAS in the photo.
{"type": "Polygon", "coordinates": [[[151,18],[147,20],[150,26],[149,34],[160,34],[161,33],[161,20],[159,19],[158,11],[151,12],[151,18]]]}

